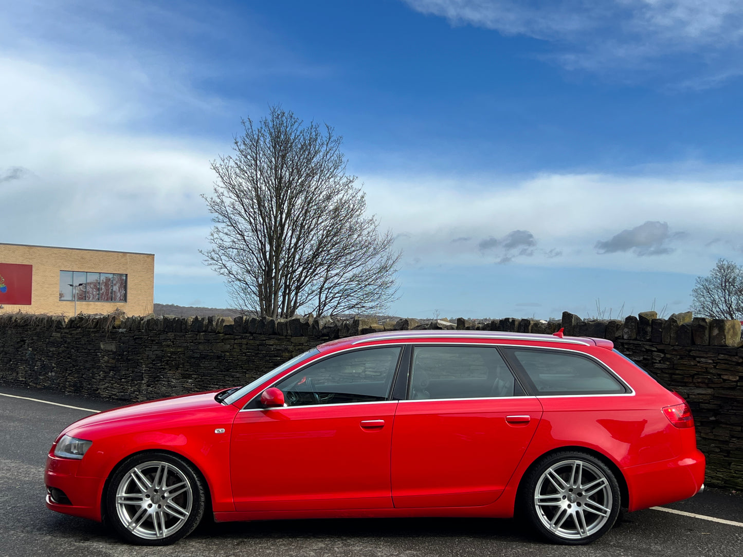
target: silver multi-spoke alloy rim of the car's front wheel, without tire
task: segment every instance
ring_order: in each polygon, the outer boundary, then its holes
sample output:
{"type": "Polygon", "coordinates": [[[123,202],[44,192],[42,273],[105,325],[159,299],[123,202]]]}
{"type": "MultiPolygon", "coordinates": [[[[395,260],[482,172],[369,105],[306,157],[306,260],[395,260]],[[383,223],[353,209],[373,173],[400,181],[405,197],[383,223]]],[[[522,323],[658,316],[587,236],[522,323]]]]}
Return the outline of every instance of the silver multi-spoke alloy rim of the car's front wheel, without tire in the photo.
{"type": "Polygon", "coordinates": [[[178,532],[192,506],[192,486],[184,472],[161,460],[137,464],[116,490],[121,524],[143,539],[162,539],[178,532]]]}

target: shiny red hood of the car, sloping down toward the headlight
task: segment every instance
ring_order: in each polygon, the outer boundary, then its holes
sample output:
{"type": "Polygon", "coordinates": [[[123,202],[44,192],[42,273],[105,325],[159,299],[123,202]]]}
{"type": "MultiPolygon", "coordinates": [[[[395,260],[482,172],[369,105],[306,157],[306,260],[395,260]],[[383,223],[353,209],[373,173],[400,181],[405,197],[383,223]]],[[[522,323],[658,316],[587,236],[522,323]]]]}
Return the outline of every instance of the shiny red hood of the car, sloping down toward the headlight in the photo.
{"type": "Polygon", "coordinates": [[[214,400],[214,395],[220,391],[224,391],[224,389],[204,393],[184,394],[180,397],[163,398],[147,403],[130,404],[121,406],[120,408],[113,408],[112,410],[92,414],[91,416],[82,418],[82,420],[71,423],[65,428],[65,431],[62,431],[62,434],[73,429],[97,426],[117,420],[135,420],[140,417],[146,417],[151,420],[155,416],[162,416],[163,414],[171,414],[173,412],[195,412],[204,410],[205,408],[220,407],[223,405],[214,400]]]}

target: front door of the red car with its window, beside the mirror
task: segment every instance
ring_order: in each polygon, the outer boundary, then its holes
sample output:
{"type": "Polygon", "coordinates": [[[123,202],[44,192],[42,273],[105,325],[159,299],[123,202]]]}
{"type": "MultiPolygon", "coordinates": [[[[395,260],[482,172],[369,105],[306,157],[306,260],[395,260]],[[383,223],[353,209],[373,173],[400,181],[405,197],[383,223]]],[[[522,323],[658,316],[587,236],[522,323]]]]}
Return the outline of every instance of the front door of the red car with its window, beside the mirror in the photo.
{"type": "Polygon", "coordinates": [[[273,385],[284,407],[239,411],[230,452],[236,510],[391,507],[398,403],[389,394],[400,352],[396,345],[316,360],[273,385]]]}

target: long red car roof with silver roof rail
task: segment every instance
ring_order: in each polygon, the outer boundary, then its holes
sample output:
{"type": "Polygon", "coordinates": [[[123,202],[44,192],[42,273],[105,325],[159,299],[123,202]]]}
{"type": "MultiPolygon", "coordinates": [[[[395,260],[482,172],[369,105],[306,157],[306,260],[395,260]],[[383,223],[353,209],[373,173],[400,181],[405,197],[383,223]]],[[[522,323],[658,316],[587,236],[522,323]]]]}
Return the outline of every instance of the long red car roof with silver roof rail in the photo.
{"type": "Polygon", "coordinates": [[[319,345],[321,352],[336,350],[346,346],[361,346],[384,340],[422,340],[422,339],[493,339],[493,340],[527,340],[532,342],[550,342],[565,345],[600,346],[611,350],[614,343],[607,339],[594,339],[589,336],[556,336],[539,333],[510,333],[496,330],[389,330],[383,333],[369,333],[359,336],[347,336],[319,345]]]}

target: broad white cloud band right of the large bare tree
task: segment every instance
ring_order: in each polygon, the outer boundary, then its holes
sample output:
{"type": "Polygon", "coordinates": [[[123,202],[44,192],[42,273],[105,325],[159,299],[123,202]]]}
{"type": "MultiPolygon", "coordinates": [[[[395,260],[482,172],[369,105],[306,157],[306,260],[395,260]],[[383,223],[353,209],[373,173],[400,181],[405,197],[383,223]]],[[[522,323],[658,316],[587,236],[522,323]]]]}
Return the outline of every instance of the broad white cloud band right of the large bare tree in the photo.
{"type": "Polygon", "coordinates": [[[410,266],[505,262],[503,257],[519,251],[488,253],[516,230],[533,241],[525,246],[533,250],[531,257],[519,258],[525,265],[703,274],[718,256],[735,259],[743,244],[741,172],[710,167],[678,177],[672,169],[660,170],[645,176],[363,179],[369,209],[383,227],[398,233],[397,245],[410,266]],[[612,238],[646,221],[661,221],[666,232],[644,248],[655,249],[655,257],[637,257],[632,249],[597,254],[597,238],[612,238]],[[710,248],[706,244],[713,239],[719,241],[710,248]]]}

